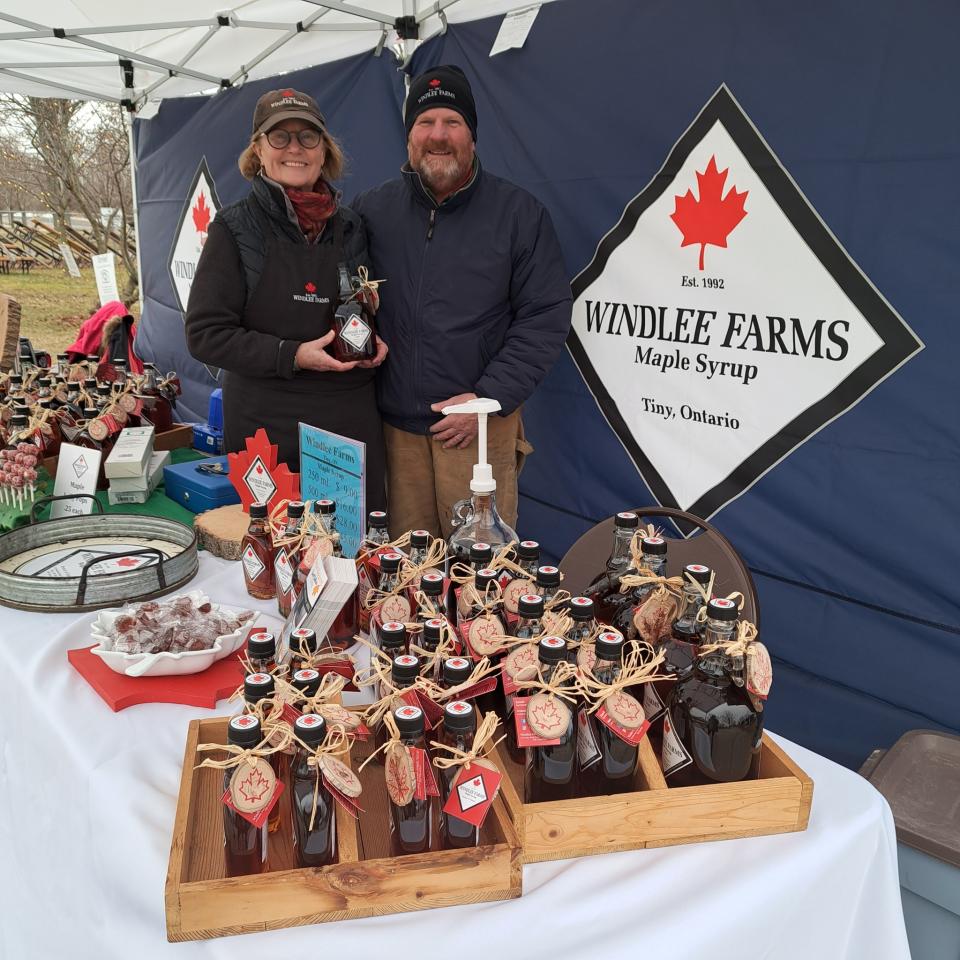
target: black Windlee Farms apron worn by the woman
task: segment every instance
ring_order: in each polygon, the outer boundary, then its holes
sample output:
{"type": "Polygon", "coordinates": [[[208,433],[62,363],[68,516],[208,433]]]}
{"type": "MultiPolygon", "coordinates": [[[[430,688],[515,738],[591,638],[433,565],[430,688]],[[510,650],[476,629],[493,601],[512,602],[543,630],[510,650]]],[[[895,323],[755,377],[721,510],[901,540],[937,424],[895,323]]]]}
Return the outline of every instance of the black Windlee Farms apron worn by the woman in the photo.
{"type": "MultiPolygon", "coordinates": [[[[339,303],[337,267],[343,254],[339,215],[328,222],[327,229],[331,228],[333,243],[294,243],[278,237],[267,242],[263,271],[244,314],[247,329],[300,342],[315,340],[331,329],[339,303]]],[[[246,438],[263,427],[277,445],[278,462],[299,473],[297,425],[301,421],[362,440],[366,444],[366,507],[385,509],[386,454],[374,373],[359,368],[346,373],[302,370],[292,380],[284,380],[224,371],[225,449],[245,449],[246,438]]]]}

